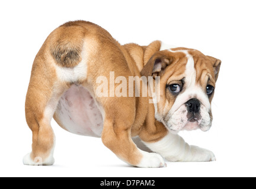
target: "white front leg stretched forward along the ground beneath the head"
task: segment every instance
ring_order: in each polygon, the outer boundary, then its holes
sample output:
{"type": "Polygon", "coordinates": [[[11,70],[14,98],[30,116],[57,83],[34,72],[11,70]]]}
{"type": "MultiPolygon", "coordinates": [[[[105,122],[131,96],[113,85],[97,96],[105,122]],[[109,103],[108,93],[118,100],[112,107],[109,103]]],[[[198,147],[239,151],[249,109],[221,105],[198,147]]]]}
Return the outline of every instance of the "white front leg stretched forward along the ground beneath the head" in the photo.
{"type": "Polygon", "coordinates": [[[168,161],[215,161],[213,152],[188,145],[179,135],[168,132],[158,142],[144,142],[152,151],[158,152],[168,161]]]}

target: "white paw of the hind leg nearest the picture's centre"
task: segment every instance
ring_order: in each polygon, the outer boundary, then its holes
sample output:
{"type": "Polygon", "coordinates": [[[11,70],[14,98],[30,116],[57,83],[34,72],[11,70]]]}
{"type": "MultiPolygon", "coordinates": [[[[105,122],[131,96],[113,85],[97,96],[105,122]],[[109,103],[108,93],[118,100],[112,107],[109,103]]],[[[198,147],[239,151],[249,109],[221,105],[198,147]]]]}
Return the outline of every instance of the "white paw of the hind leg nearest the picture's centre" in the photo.
{"type": "Polygon", "coordinates": [[[161,157],[161,155],[156,153],[149,153],[141,151],[143,154],[143,157],[141,161],[139,162],[137,167],[166,167],[167,164],[165,164],[164,158],[161,157]]]}

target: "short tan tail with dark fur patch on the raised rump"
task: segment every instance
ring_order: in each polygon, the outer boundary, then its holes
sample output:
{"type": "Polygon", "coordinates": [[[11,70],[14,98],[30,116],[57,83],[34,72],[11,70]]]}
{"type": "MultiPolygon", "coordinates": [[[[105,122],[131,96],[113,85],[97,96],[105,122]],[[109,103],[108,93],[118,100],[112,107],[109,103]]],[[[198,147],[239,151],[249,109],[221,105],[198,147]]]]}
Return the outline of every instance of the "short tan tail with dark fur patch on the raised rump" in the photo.
{"type": "Polygon", "coordinates": [[[52,32],[50,53],[58,66],[75,67],[82,60],[85,28],[80,22],[67,22],[52,32]]]}

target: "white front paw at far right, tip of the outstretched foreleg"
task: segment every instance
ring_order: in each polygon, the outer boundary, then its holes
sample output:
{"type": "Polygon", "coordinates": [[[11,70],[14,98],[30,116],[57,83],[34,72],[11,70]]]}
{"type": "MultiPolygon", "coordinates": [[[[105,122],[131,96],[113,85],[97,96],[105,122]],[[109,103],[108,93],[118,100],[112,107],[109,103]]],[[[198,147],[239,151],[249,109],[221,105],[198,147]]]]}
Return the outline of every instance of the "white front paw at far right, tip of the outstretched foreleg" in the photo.
{"type": "Polygon", "coordinates": [[[216,161],[215,155],[208,149],[191,146],[192,161],[216,161]]]}

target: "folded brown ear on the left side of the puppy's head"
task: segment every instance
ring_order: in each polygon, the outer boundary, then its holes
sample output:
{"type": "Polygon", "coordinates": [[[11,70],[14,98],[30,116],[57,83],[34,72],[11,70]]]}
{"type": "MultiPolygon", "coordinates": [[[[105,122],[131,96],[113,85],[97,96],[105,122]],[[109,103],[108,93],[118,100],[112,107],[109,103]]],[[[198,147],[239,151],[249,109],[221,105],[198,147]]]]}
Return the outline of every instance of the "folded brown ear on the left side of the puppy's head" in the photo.
{"type": "Polygon", "coordinates": [[[172,57],[164,56],[157,52],[149,59],[148,63],[140,71],[142,76],[153,76],[154,78],[173,61],[172,57]]]}

